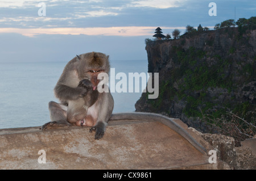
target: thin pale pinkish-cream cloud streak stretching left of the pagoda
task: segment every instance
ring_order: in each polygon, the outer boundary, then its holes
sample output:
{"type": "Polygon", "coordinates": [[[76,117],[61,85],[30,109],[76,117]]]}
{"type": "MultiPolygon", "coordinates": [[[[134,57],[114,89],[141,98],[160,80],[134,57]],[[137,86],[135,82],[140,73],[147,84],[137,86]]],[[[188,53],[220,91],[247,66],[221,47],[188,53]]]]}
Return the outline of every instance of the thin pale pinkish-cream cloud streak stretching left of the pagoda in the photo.
{"type": "MultiPolygon", "coordinates": [[[[150,36],[156,27],[93,27],[93,28],[0,28],[0,33],[19,33],[23,36],[36,35],[104,35],[104,36],[150,36]]],[[[185,27],[161,27],[162,30],[184,30],[185,27]]]]}

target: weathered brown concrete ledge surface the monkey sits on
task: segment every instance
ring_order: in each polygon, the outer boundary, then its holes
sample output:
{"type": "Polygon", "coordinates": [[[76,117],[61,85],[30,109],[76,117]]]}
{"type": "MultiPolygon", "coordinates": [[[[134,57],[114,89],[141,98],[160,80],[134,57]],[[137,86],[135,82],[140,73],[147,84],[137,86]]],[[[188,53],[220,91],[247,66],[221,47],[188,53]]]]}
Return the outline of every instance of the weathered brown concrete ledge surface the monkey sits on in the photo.
{"type": "MultiPolygon", "coordinates": [[[[203,138],[189,133],[207,148],[203,138]]],[[[217,169],[156,121],[110,121],[101,140],[88,127],[0,129],[0,153],[0,169],[217,169]],[[46,163],[38,163],[39,150],[46,151],[46,163]]]]}

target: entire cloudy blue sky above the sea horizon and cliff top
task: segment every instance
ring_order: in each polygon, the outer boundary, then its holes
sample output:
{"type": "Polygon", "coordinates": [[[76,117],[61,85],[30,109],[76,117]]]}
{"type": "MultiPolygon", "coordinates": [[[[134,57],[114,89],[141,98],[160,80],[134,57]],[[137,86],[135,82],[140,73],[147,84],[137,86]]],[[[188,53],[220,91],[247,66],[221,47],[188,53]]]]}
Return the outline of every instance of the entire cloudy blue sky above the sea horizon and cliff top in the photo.
{"type": "Polygon", "coordinates": [[[212,29],[255,12],[251,0],[0,0],[0,62],[69,61],[92,51],[146,60],[144,40],[157,27],[182,34],[188,24],[212,29]],[[216,16],[209,15],[210,2],[216,16]]]}

